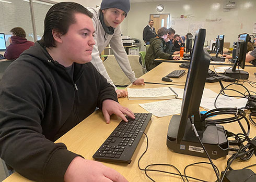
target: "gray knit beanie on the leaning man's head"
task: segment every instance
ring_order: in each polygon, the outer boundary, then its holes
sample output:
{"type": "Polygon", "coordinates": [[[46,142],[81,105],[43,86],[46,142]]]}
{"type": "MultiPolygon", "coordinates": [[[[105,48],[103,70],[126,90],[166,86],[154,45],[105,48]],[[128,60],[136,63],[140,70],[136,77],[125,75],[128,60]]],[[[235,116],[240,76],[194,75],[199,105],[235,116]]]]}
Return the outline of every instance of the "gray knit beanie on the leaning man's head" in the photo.
{"type": "Polygon", "coordinates": [[[118,8],[123,10],[126,15],[130,11],[130,0],[102,0],[100,9],[118,8]]]}

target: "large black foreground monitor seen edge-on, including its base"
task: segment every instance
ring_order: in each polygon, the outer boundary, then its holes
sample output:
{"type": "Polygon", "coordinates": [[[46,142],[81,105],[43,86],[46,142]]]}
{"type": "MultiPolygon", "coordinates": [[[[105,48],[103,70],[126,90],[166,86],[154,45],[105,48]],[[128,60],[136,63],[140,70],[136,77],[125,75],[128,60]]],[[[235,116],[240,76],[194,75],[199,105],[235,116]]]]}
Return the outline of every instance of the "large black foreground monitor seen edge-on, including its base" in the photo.
{"type": "Polygon", "coordinates": [[[196,33],[190,68],[185,83],[181,114],[173,115],[168,127],[167,146],[174,152],[207,157],[192,131],[194,123],[204,146],[212,159],[228,154],[228,140],[221,125],[205,124],[200,115],[200,102],[211,56],[204,49],[206,30],[196,33]],[[192,121],[190,121],[192,119],[192,121]]]}

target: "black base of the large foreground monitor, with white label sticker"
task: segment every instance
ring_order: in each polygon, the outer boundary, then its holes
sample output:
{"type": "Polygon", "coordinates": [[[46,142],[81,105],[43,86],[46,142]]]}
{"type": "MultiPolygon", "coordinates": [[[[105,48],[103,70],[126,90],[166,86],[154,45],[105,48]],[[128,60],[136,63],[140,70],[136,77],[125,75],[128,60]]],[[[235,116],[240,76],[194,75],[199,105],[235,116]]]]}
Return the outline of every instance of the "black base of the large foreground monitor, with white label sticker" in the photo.
{"type": "MultiPolygon", "coordinates": [[[[180,115],[173,115],[168,127],[167,147],[176,153],[207,158],[207,155],[204,152],[198,138],[195,136],[192,130],[190,120],[187,122],[187,127],[182,141],[180,144],[176,143],[179,124],[180,115]]],[[[222,125],[207,125],[205,131],[199,133],[199,136],[211,159],[222,158],[228,154],[228,139],[222,125]]]]}

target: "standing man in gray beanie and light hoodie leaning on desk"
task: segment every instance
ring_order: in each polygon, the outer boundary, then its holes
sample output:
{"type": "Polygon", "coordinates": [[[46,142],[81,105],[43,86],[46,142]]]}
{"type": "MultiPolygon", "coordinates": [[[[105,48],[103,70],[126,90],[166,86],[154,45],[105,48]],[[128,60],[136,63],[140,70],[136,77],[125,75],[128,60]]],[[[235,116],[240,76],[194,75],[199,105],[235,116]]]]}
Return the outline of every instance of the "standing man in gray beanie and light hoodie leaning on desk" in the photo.
{"type": "MultiPolygon", "coordinates": [[[[92,21],[95,27],[96,42],[92,50],[91,63],[94,64],[95,68],[115,87],[99,56],[109,44],[113,50],[115,59],[129,80],[135,85],[144,85],[144,79],[135,78],[121,38],[120,24],[130,10],[130,0],[103,0],[100,7],[89,7],[88,9],[93,14],[92,21]]],[[[117,87],[115,87],[115,89],[118,97],[127,96],[127,91],[117,89],[117,87]]]]}

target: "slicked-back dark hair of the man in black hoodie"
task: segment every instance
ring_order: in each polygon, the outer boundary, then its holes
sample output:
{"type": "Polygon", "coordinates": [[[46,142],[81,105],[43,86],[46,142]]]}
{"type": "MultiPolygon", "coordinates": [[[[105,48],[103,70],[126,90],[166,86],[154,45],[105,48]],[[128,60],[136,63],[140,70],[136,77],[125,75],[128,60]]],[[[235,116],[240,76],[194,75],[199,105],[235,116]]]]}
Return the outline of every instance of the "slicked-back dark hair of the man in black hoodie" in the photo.
{"type": "Polygon", "coordinates": [[[75,14],[81,13],[92,18],[92,13],[84,6],[74,2],[62,2],[53,5],[44,19],[44,33],[42,43],[46,47],[56,47],[52,30],[59,31],[65,35],[71,24],[76,23],[75,14]]]}

